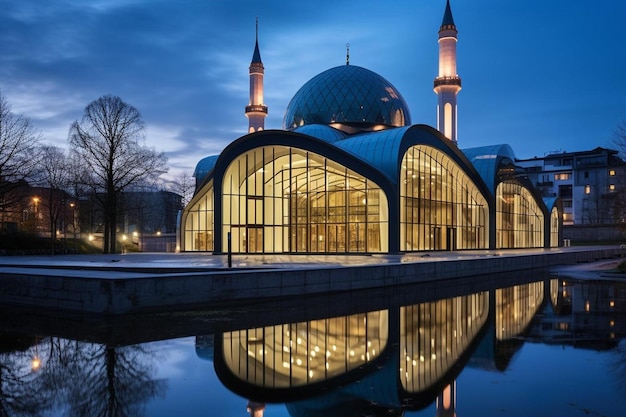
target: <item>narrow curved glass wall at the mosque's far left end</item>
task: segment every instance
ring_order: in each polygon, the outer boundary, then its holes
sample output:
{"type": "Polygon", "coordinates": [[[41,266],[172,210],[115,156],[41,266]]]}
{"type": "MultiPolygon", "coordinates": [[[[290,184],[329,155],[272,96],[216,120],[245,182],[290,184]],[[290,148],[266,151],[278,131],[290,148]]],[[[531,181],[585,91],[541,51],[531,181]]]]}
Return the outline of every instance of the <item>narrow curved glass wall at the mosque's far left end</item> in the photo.
{"type": "Polygon", "coordinates": [[[204,195],[187,209],[184,223],[184,251],[212,251],[214,221],[213,181],[204,195]]]}

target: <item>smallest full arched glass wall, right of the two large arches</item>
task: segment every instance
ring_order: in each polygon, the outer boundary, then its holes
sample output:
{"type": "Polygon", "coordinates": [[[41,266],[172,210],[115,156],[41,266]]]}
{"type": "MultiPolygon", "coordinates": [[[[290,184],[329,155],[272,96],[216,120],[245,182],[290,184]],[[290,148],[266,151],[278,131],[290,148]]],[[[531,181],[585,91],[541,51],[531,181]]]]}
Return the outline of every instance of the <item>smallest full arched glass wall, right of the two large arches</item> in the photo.
{"type": "Polygon", "coordinates": [[[517,182],[502,182],[496,189],[496,247],[543,246],[543,213],[530,192],[517,182]]]}

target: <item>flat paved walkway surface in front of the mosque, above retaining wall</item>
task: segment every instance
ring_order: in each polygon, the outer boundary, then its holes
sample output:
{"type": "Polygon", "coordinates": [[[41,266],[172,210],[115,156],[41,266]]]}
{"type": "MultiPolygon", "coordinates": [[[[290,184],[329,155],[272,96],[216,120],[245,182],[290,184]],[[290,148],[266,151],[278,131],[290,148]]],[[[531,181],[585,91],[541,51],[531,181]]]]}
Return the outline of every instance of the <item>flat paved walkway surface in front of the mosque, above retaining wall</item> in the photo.
{"type": "MultiPolygon", "coordinates": [[[[436,261],[468,260],[490,257],[514,257],[542,253],[569,253],[589,249],[615,249],[615,246],[567,247],[550,249],[468,250],[453,252],[414,252],[408,254],[350,255],[249,255],[232,256],[233,269],[304,269],[357,265],[384,265],[436,261]]],[[[626,249],[624,249],[626,255],[626,249]]],[[[2,256],[0,272],[24,269],[47,270],[46,275],[93,277],[142,277],[163,273],[201,272],[228,269],[227,255],[209,253],[127,253],[112,255],[2,256]],[[88,274],[87,274],[88,272],[88,274]]]]}

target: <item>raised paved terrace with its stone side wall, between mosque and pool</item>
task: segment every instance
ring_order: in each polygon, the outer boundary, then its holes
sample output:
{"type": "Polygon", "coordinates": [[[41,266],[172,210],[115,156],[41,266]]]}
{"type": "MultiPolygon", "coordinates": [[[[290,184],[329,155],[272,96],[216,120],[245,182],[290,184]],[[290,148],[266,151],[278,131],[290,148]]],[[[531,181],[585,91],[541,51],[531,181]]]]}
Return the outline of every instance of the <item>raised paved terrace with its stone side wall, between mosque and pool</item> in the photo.
{"type": "Polygon", "coordinates": [[[520,271],[624,256],[617,246],[403,255],[134,253],[0,257],[0,304],[126,314],[233,302],[325,296],[472,277],[489,283],[520,271]]]}

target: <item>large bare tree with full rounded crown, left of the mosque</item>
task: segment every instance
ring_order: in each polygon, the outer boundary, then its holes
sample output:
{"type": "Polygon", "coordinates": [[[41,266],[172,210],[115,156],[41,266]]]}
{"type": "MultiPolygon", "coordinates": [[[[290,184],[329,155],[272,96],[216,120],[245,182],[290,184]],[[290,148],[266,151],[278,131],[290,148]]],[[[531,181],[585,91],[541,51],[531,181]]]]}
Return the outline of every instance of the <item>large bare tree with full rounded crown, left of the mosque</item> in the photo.
{"type": "Polygon", "coordinates": [[[69,142],[87,168],[85,184],[104,212],[104,253],[115,253],[118,200],[128,187],[167,172],[163,153],[143,145],[141,113],[117,96],[91,102],[70,127],[69,142]]]}

